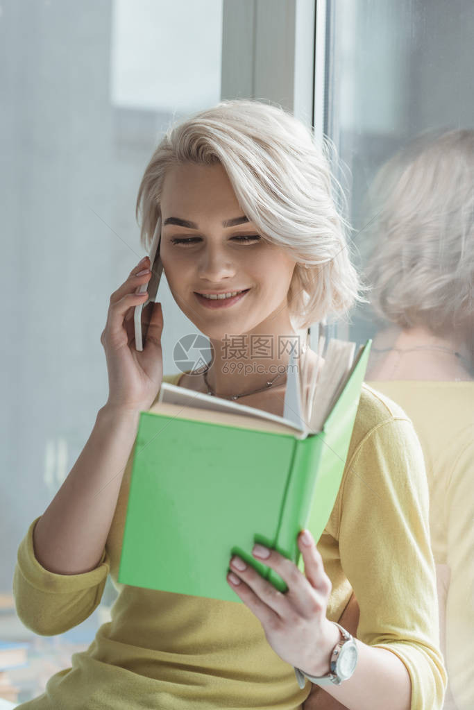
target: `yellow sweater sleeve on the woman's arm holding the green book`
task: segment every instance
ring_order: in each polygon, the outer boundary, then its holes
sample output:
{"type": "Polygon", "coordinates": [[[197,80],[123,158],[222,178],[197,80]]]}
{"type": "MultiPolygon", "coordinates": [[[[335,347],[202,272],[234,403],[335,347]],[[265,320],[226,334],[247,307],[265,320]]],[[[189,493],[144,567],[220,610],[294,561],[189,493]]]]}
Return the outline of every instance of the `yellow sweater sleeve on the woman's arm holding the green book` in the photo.
{"type": "Polygon", "coordinates": [[[390,417],[358,445],[341,493],[341,565],[360,607],[357,638],[407,667],[411,710],[441,710],[436,571],[424,456],[412,422],[390,417]]]}

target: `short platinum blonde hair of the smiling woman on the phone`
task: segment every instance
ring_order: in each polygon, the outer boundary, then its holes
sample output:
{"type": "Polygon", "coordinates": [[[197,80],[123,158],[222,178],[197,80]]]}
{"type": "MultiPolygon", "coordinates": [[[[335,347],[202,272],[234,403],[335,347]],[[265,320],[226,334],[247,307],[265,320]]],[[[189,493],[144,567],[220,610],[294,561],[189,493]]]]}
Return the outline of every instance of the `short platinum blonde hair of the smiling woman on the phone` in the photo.
{"type": "Polygon", "coordinates": [[[306,126],[282,107],[253,99],[221,101],[170,126],[140,182],[140,243],[148,251],[167,170],[220,163],[246,217],[297,261],[287,296],[297,327],[346,314],[355,300],[365,300],[358,294],[364,287],[350,261],[329,148],[326,141],[319,149],[306,126]]]}

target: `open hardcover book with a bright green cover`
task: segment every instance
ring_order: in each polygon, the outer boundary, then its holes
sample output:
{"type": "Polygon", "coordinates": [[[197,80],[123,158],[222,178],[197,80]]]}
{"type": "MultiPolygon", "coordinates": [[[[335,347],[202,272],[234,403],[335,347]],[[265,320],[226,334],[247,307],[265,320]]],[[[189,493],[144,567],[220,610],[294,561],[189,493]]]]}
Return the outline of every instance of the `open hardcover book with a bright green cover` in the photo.
{"type": "Polygon", "coordinates": [[[371,343],[354,357],[354,343],[331,339],[304,383],[293,351],[282,417],[162,383],[140,413],[118,582],[242,603],[226,580],[239,555],[286,591],[251,550],[304,570],[297,535],[317,542],[331,515],[371,343]]]}

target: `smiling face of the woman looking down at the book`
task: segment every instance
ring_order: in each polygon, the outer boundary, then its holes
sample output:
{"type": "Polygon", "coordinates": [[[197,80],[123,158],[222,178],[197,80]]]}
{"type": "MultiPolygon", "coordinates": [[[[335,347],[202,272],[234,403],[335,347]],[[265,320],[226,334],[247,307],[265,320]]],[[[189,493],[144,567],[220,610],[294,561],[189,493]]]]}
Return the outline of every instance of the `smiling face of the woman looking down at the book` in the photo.
{"type": "Polygon", "coordinates": [[[296,262],[264,241],[253,222],[223,224],[245,215],[220,164],[170,169],[161,215],[160,255],[167,282],[182,312],[202,333],[222,339],[258,326],[269,334],[291,331],[287,292],[296,262]],[[171,218],[194,224],[167,224],[171,218]],[[196,293],[243,289],[249,289],[246,295],[219,308],[207,307],[209,301],[196,293]]]}

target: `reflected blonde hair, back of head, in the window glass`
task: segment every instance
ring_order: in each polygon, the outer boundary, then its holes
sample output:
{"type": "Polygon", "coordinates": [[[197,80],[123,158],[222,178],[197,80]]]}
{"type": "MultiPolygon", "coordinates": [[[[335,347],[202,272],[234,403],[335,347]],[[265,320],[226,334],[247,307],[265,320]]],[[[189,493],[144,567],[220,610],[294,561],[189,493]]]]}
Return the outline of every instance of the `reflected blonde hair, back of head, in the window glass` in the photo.
{"type": "Polygon", "coordinates": [[[382,166],[368,201],[375,314],[438,335],[472,328],[474,131],[419,136],[382,166]]]}

